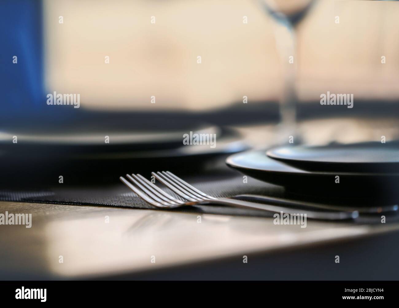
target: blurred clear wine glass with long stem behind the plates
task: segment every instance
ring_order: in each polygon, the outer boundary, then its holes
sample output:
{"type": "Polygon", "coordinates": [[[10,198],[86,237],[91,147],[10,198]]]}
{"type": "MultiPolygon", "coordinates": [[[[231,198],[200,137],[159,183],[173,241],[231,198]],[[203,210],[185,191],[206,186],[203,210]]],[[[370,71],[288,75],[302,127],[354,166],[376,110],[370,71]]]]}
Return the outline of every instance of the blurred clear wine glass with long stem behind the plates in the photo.
{"type": "Polygon", "coordinates": [[[276,21],[274,34],[282,63],[283,89],[279,99],[280,126],[279,142],[286,142],[288,136],[300,136],[296,131],[296,25],[306,16],[315,0],[260,0],[266,12],[276,21]]]}

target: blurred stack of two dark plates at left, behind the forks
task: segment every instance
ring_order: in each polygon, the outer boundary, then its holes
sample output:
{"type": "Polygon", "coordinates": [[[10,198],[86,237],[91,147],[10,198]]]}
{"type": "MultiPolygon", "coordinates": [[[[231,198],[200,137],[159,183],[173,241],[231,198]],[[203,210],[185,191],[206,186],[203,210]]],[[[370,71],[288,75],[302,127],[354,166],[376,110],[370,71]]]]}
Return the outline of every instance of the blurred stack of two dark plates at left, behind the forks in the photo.
{"type": "Polygon", "coordinates": [[[150,125],[123,129],[123,123],[116,127],[105,123],[103,128],[93,121],[78,124],[68,129],[57,126],[0,131],[2,187],[58,184],[60,175],[74,185],[112,184],[126,172],[148,172],[174,164],[181,169],[201,168],[205,158],[249,148],[235,130],[202,122],[171,123],[152,130],[150,125]],[[186,135],[189,144],[183,142],[186,135]],[[197,135],[216,137],[196,144],[192,136],[197,135]]]}

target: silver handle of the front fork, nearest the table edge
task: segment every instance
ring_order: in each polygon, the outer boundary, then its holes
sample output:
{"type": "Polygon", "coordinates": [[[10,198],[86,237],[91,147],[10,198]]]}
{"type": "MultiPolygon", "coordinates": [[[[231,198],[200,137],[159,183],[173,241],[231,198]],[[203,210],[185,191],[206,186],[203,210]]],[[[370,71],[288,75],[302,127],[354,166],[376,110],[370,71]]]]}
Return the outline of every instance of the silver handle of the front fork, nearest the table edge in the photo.
{"type": "Polygon", "coordinates": [[[306,217],[311,219],[325,219],[325,220],[341,220],[341,219],[354,219],[358,217],[357,211],[312,211],[312,210],[304,210],[298,208],[290,208],[283,207],[279,205],[271,205],[264,203],[255,203],[231,198],[220,198],[217,200],[203,200],[203,201],[195,201],[189,202],[187,205],[195,205],[195,204],[221,204],[221,205],[230,205],[233,207],[239,207],[244,209],[257,209],[268,211],[271,213],[290,213],[290,214],[306,214],[306,217]]]}

